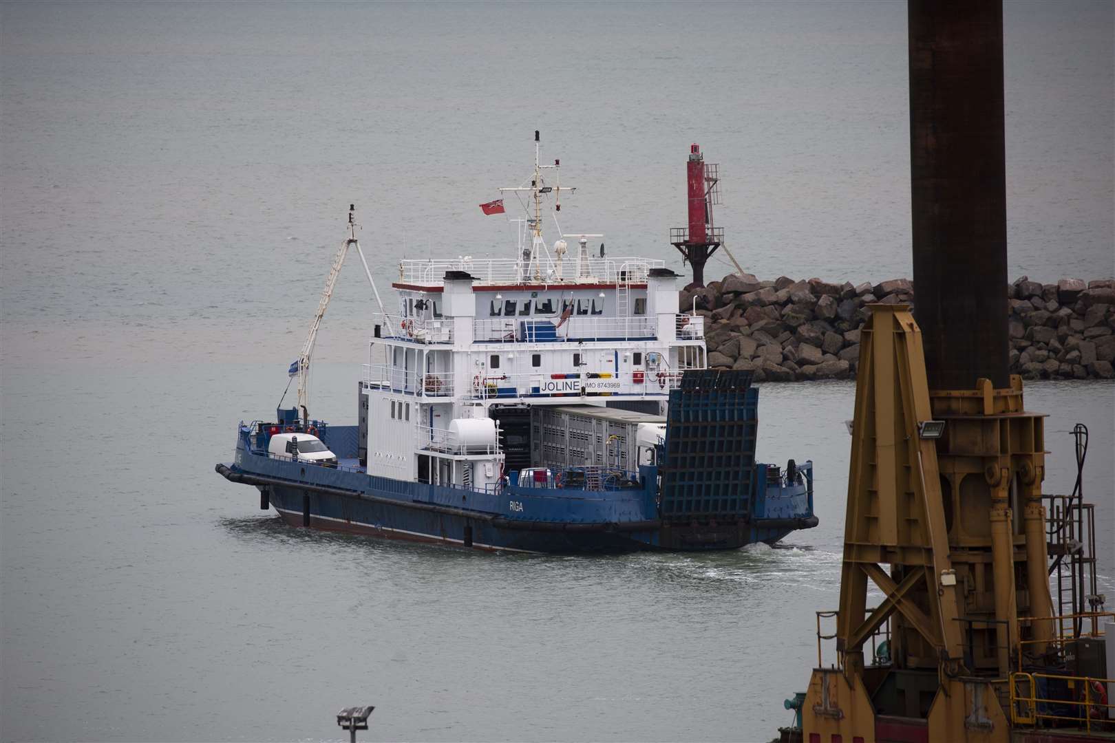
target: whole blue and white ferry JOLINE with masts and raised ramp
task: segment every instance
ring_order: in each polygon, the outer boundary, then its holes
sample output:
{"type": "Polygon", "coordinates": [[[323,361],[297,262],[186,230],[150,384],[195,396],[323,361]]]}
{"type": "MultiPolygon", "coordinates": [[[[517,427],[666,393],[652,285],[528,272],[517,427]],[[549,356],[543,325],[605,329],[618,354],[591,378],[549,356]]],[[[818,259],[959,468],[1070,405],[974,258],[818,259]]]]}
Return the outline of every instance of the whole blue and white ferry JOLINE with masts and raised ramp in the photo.
{"type": "Polygon", "coordinates": [[[356,380],[358,422],[332,426],[309,416],[306,375],[349,250],[379,302],[350,207],[291,364],[299,404],[242,421],[217,472],[291,526],[487,550],[736,549],[816,526],[812,462],[755,461],[750,372],[706,368],[705,319],[679,307],[665,262],[561,232],[574,189],[534,141],[524,183],[482,205],[522,207],[514,256],[401,261],[356,380]]]}

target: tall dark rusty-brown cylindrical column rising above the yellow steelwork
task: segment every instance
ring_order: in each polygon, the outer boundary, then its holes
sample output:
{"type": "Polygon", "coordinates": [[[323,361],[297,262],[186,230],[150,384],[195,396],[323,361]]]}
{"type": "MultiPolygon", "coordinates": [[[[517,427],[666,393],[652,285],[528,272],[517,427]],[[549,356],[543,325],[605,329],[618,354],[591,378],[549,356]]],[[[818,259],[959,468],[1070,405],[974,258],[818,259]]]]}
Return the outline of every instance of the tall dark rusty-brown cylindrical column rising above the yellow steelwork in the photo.
{"type": "Polygon", "coordinates": [[[914,317],[929,387],[1009,387],[1001,0],[910,0],[914,317]]]}

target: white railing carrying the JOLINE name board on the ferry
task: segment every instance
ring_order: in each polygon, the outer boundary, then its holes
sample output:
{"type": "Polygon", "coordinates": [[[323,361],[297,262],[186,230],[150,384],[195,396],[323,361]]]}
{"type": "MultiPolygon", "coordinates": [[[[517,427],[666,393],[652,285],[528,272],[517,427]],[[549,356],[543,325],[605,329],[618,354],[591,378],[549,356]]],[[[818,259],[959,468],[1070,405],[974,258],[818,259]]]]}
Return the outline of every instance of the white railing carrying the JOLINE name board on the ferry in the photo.
{"type": "Polygon", "coordinates": [[[474,377],[472,388],[463,390],[462,394],[473,400],[662,395],[680,385],[680,371],[631,371],[619,375],[609,372],[492,374],[474,377]]]}

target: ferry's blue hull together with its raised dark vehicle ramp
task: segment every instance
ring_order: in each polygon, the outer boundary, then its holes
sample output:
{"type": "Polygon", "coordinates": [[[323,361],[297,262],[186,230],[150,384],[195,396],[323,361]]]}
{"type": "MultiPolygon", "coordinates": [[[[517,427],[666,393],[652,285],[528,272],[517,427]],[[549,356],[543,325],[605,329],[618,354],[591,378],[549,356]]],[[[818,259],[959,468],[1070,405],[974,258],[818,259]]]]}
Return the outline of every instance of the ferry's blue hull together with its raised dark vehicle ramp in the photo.
{"type": "Polygon", "coordinates": [[[348,534],[526,553],[774,544],[816,526],[813,466],[782,472],[755,462],[758,391],[749,383],[731,372],[687,373],[670,393],[661,467],[640,466],[614,487],[521,485],[512,472],[481,490],[369,475],[357,459],[358,428],[320,421],[311,430],[338,466],[271,456],[270,426],[242,423],[235,461],[216,471],[255,486],[261,508],[291,526],[348,534]]]}

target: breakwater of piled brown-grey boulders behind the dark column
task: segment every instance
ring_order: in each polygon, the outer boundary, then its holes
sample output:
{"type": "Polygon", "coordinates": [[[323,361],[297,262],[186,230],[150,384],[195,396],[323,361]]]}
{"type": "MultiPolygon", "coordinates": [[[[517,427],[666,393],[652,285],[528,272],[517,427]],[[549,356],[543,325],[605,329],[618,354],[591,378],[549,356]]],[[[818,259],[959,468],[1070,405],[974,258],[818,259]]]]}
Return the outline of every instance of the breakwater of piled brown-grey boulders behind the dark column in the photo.
{"type": "MultiPolygon", "coordinates": [[[[834,284],[729,274],[680,292],[705,316],[708,365],[748,369],[757,381],[854,378],[869,304],[914,304],[913,282],[834,284]]],[[[1022,276],[1006,287],[1010,371],[1024,379],[1112,379],[1115,281],[1022,276]]]]}

